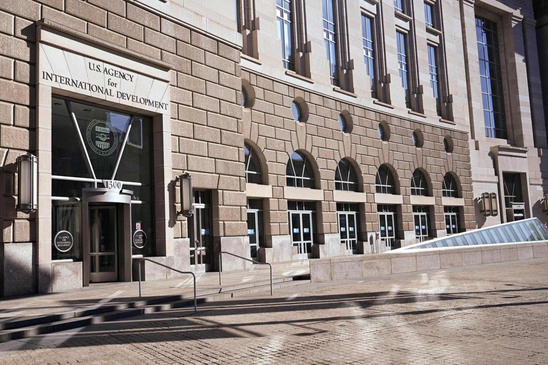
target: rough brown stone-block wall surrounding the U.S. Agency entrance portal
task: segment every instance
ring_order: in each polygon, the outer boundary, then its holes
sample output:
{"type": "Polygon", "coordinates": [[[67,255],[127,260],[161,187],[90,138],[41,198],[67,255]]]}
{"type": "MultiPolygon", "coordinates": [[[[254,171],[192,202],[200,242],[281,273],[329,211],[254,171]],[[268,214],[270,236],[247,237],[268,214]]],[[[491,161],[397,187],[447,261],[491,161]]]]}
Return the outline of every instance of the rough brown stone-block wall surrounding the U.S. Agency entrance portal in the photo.
{"type": "MultiPolygon", "coordinates": [[[[245,189],[243,154],[238,150],[243,146],[242,109],[236,103],[241,89],[239,51],[122,0],[4,0],[0,1],[3,241],[32,240],[34,236],[32,219],[18,221],[28,215],[15,211],[13,186],[17,183],[15,158],[35,148],[33,42],[35,21],[42,18],[173,65],[173,176],[182,170],[196,172],[196,188],[215,189],[215,235],[246,235],[242,209],[246,199],[229,195],[244,196],[245,189]]],[[[187,235],[184,219],[176,220],[174,228],[175,238],[187,235]]]]}

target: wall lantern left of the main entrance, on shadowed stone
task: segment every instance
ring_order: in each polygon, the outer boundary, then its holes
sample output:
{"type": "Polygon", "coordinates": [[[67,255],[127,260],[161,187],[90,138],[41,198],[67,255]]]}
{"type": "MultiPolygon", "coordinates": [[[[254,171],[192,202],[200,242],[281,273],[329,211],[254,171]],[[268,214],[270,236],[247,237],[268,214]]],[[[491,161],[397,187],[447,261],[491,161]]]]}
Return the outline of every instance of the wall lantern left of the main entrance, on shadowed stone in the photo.
{"type": "Polygon", "coordinates": [[[30,213],[38,209],[38,158],[30,153],[18,158],[19,182],[17,210],[30,213]]]}

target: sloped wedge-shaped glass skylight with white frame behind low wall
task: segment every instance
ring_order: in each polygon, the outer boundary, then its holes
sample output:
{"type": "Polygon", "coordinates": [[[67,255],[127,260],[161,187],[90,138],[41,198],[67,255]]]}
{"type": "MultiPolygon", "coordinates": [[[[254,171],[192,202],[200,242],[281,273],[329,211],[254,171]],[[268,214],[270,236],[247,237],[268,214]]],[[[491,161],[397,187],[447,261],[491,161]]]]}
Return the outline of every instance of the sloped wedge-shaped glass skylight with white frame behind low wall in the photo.
{"type": "Polygon", "coordinates": [[[421,248],[443,248],[493,244],[524,244],[533,241],[548,240],[548,229],[540,223],[538,218],[523,219],[522,221],[492,225],[463,233],[443,237],[443,239],[421,242],[407,247],[398,248],[391,252],[418,250],[421,248]]]}

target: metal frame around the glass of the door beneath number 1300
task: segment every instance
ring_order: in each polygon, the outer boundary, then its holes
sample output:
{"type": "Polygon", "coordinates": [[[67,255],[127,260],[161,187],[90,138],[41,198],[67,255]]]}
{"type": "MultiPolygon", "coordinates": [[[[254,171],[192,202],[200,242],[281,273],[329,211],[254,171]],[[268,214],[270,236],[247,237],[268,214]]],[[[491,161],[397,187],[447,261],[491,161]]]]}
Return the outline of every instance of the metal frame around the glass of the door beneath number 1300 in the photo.
{"type": "MultiPolygon", "coordinates": [[[[91,224],[91,222],[89,222],[89,229],[90,229],[90,242],[89,242],[89,247],[91,248],[92,245],[95,249],[95,253],[92,253],[92,252],[89,252],[89,258],[90,259],[94,259],[95,260],[95,268],[96,269],[99,269],[99,260],[98,260],[98,256],[107,256],[107,255],[114,255],[114,262],[115,262],[115,269],[114,271],[109,271],[107,273],[92,273],[90,271],[89,273],[89,281],[90,282],[107,282],[107,281],[118,281],[118,208],[116,205],[94,205],[94,206],[90,206],[88,207],[88,210],[89,211],[92,211],[94,210],[95,213],[93,215],[89,215],[89,217],[94,217],[94,222],[93,224],[91,224]],[[103,253],[98,253],[99,252],[99,226],[97,224],[98,222],[98,210],[100,209],[112,209],[114,210],[114,215],[116,217],[116,222],[114,222],[114,252],[103,252],[103,253]],[[91,231],[94,231],[93,234],[91,233],[91,231]],[[91,242],[91,237],[92,236],[95,236],[95,242],[91,242]]],[[[90,266],[90,269],[91,269],[91,266],[90,266]]]]}

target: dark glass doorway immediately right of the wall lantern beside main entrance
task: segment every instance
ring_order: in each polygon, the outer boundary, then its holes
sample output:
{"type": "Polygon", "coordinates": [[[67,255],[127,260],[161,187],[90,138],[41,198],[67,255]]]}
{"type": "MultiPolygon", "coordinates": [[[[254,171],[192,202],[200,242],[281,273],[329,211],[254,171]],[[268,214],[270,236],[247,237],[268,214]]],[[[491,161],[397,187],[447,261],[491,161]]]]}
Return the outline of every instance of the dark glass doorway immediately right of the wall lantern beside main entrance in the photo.
{"type": "Polygon", "coordinates": [[[194,191],[194,210],[195,213],[189,219],[188,228],[192,233],[190,237],[190,267],[195,273],[205,273],[213,270],[211,192],[207,190],[194,191]]]}

